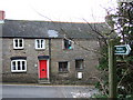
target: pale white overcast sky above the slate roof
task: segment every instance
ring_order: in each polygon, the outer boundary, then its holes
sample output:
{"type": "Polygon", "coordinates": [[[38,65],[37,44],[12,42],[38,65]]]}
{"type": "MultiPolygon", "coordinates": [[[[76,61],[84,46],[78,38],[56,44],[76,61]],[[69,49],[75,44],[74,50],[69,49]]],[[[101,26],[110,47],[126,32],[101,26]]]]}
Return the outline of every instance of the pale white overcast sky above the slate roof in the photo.
{"type": "Polygon", "coordinates": [[[115,0],[0,0],[6,19],[103,22],[115,0]]]}

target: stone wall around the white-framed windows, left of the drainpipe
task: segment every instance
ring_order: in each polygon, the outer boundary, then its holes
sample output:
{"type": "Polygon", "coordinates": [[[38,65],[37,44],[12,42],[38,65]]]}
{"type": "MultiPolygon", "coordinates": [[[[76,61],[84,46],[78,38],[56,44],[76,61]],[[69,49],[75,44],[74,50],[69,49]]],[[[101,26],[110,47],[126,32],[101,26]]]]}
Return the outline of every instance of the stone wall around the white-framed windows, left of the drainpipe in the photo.
{"type": "Polygon", "coordinates": [[[13,50],[13,39],[3,39],[2,44],[2,80],[7,82],[38,82],[38,56],[49,54],[49,48],[35,50],[34,39],[24,39],[23,50],[13,50]],[[11,57],[27,57],[27,72],[11,72],[11,57]]]}

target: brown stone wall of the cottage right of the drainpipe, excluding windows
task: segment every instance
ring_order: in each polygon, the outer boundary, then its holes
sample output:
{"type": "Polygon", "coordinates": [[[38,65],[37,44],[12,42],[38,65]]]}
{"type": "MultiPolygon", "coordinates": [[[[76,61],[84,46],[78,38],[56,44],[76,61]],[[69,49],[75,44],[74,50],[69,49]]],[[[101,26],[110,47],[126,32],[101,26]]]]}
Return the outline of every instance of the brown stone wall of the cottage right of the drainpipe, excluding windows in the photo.
{"type": "Polygon", "coordinates": [[[98,77],[99,71],[95,67],[99,64],[99,57],[94,50],[99,50],[99,42],[89,39],[75,39],[73,40],[74,48],[72,50],[63,49],[63,39],[51,40],[51,78],[53,82],[60,83],[92,83],[95,80],[92,77],[98,77]],[[83,48],[88,49],[84,50],[83,48]],[[75,59],[84,59],[83,70],[75,70],[75,59]],[[69,62],[69,72],[59,72],[59,62],[69,62]],[[78,72],[83,72],[83,79],[78,79],[78,72]]]}

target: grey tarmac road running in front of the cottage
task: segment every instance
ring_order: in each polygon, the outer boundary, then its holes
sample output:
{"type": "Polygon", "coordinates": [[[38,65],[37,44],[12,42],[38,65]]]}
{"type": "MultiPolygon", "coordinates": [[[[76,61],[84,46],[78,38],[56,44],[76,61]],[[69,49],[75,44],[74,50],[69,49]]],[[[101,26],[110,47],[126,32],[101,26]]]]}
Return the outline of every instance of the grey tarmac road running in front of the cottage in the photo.
{"type": "Polygon", "coordinates": [[[96,92],[86,86],[2,84],[2,98],[90,98],[96,92]]]}

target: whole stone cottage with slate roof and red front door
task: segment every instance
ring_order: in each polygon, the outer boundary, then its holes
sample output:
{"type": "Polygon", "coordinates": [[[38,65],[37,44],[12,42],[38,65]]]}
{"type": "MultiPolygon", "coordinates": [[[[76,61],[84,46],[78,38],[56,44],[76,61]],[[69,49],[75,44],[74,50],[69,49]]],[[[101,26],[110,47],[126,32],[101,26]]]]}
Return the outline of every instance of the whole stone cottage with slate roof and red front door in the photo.
{"type": "Polygon", "coordinates": [[[99,76],[100,44],[88,23],[4,20],[0,27],[3,82],[93,83],[99,76]]]}

